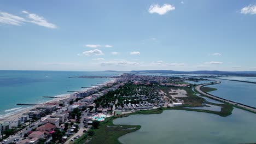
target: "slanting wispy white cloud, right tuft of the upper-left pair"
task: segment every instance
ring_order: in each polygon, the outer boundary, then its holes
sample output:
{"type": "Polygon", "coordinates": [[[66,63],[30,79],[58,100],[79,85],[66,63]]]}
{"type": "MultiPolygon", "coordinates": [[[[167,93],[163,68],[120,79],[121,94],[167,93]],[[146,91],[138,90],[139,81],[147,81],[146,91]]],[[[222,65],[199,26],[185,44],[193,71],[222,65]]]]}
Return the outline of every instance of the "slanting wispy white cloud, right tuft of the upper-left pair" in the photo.
{"type": "Polygon", "coordinates": [[[37,14],[28,13],[27,11],[22,11],[22,13],[27,14],[27,17],[31,19],[29,22],[35,23],[39,26],[48,27],[48,28],[57,28],[53,23],[48,22],[44,19],[43,16],[37,14]]]}

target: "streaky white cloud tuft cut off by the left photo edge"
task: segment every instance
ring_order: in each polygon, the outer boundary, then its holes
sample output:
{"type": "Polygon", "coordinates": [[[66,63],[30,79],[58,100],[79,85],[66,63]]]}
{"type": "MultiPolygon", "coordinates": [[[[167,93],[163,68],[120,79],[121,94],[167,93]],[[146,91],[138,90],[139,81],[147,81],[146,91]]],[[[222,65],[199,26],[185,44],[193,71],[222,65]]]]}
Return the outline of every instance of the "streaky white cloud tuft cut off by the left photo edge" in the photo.
{"type": "Polygon", "coordinates": [[[0,23],[4,23],[6,25],[20,26],[24,22],[26,22],[26,20],[22,17],[0,12],[0,23]]]}

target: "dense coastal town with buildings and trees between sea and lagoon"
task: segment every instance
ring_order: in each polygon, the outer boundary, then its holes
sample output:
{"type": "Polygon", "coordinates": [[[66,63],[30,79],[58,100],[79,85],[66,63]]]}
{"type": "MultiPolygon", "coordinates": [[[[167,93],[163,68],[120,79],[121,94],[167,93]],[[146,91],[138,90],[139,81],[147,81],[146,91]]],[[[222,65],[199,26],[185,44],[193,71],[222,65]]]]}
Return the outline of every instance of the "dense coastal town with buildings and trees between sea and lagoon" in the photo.
{"type": "MultiPolygon", "coordinates": [[[[83,77],[73,77],[81,79],[83,77]]],[[[112,116],[159,107],[202,106],[192,95],[193,77],[123,74],[114,80],[56,98],[1,119],[2,143],[73,143],[112,116]],[[191,96],[192,95],[192,96],[191,96]]]]}

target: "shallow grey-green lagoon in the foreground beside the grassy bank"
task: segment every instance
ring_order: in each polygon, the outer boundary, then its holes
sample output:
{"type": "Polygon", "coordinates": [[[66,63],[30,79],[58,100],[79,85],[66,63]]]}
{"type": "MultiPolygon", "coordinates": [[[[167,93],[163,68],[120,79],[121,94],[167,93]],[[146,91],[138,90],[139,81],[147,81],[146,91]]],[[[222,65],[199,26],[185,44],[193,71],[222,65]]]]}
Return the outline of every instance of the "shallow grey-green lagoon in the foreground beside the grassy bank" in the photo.
{"type": "Polygon", "coordinates": [[[234,109],[232,115],[167,110],[154,115],[132,115],[114,124],[142,125],[119,137],[122,143],[252,143],[256,142],[256,115],[234,109]]]}

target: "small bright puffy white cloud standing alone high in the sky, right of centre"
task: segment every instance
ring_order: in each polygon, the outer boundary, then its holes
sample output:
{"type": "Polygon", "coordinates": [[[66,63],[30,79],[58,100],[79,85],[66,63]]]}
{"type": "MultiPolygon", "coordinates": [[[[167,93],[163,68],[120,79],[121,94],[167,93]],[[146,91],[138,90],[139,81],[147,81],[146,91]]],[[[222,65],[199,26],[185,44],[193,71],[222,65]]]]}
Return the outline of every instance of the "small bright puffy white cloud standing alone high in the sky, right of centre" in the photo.
{"type": "Polygon", "coordinates": [[[152,4],[152,5],[150,5],[148,12],[150,14],[157,13],[159,15],[164,15],[168,11],[171,11],[174,9],[175,9],[175,7],[171,4],[164,4],[164,5],[162,5],[162,7],[160,7],[160,5],[158,5],[158,4],[152,4]]]}

